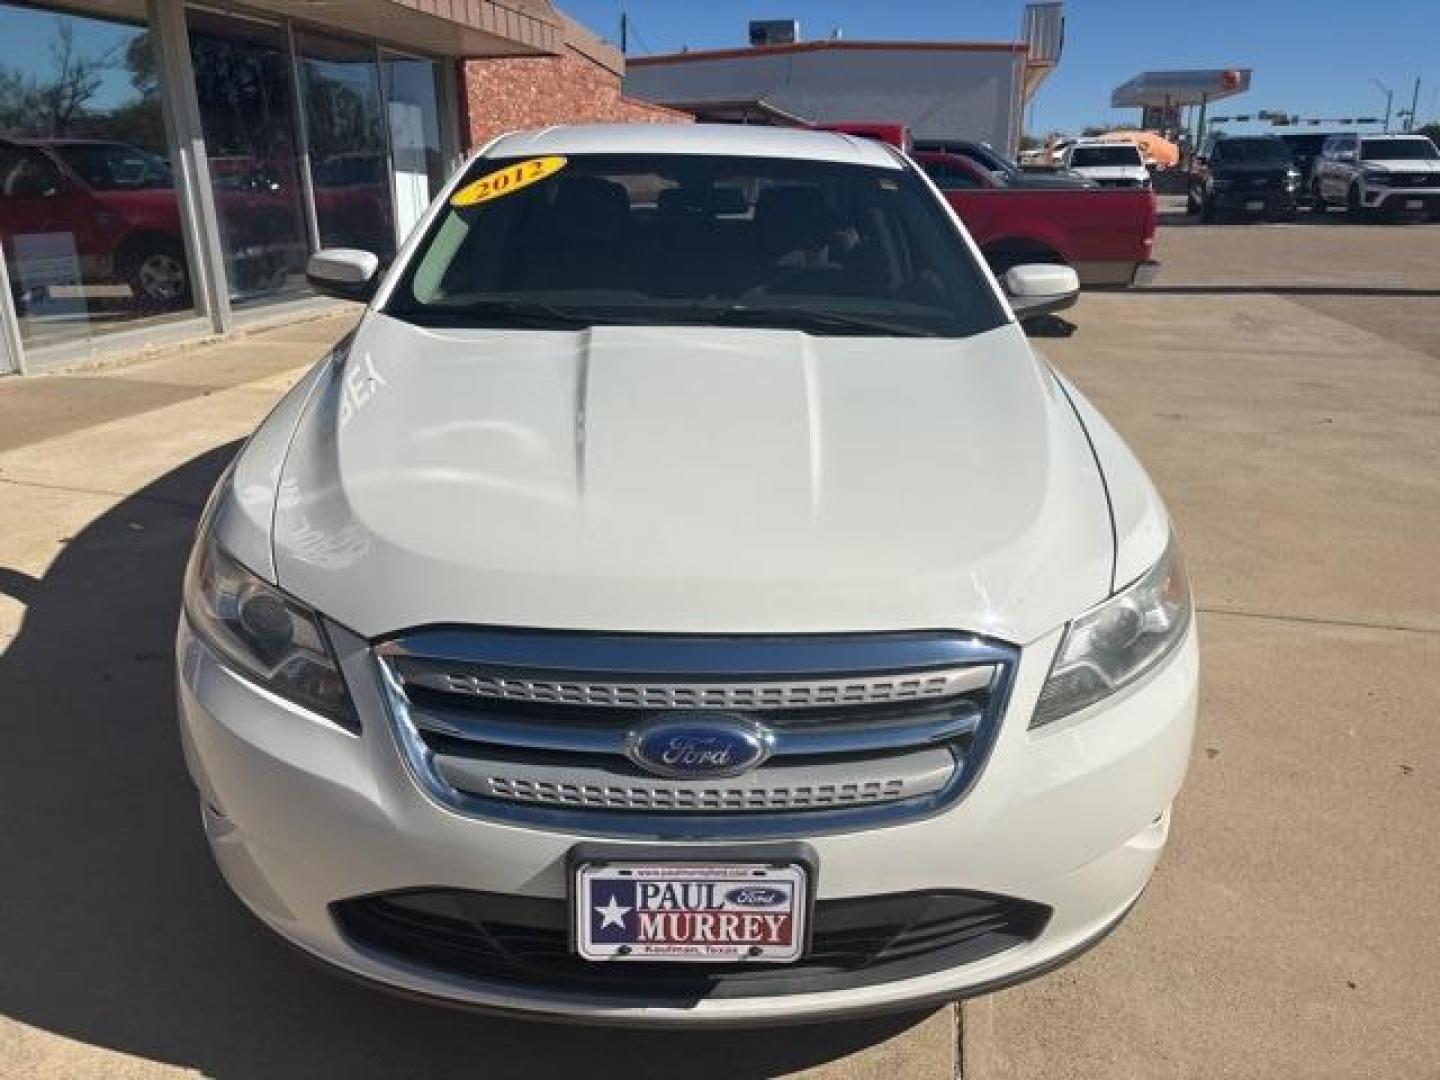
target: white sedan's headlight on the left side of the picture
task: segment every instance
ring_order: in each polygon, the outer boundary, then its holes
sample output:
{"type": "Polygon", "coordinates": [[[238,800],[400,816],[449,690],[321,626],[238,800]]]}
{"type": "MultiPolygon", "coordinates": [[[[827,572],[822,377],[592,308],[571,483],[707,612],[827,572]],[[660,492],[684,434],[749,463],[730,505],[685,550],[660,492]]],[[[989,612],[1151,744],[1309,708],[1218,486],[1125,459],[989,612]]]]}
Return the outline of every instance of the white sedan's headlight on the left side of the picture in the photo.
{"type": "Polygon", "coordinates": [[[315,612],[256,577],[204,536],[184,611],[194,632],[266,690],[356,730],[354,708],[315,612]]]}

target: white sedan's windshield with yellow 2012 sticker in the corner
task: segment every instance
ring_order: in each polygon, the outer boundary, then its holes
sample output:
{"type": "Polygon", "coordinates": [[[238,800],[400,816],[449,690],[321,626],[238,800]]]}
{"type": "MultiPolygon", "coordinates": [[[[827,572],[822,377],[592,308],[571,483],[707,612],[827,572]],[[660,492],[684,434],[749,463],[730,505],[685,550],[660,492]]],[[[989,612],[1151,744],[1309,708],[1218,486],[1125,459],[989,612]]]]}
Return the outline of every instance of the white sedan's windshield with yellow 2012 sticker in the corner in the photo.
{"type": "Polygon", "coordinates": [[[912,173],[696,154],[481,158],[384,310],[422,325],[943,337],[1005,321],[912,173]]]}

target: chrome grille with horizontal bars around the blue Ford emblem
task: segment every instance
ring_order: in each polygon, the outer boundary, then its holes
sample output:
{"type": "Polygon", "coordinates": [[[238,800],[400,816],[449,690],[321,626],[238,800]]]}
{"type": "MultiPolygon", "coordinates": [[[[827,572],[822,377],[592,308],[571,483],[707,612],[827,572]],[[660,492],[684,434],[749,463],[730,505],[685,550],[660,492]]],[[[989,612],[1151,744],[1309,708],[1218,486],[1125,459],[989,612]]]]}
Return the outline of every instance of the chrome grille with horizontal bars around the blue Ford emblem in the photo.
{"type": "Polygon", "coordinates": [[[397,743],[452,809],[589,835],[716,838],[858,828],[952,802],[989,750],[1015,660],[945,634],[422,631],[374,652],[397,743]],[[636,724],[687,710],[762,724],[770,756],[727,779],[632,763],[636,724]]]}

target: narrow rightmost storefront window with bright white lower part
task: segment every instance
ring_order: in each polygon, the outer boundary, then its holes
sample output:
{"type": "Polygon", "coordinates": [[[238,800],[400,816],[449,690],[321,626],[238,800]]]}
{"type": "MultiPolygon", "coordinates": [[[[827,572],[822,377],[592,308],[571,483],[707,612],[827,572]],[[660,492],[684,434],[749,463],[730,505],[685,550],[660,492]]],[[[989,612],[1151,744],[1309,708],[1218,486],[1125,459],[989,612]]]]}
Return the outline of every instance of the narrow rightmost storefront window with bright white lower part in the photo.
{"type": "Polygon", "coordinates": [[[395,217],[406,236],[445,183],[441,150],[439,65],[382,53],[384,102],[395,158],[395,217]]]}

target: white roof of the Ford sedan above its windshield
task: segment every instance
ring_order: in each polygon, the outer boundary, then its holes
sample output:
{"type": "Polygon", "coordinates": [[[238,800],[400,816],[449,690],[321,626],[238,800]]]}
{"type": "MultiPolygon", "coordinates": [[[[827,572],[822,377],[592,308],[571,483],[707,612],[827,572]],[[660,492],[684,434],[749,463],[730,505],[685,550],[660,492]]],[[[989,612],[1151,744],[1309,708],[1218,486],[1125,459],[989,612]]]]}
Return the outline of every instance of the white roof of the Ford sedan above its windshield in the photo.
{"type": "Polygon", "coordinates": [[[539,154],[716,154],[901,168],[890,147],[837,131],[743,124],[580,124],[501,135],[487,157],[539,154]]]}

